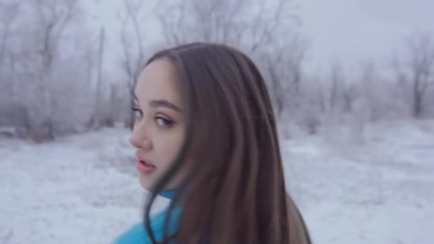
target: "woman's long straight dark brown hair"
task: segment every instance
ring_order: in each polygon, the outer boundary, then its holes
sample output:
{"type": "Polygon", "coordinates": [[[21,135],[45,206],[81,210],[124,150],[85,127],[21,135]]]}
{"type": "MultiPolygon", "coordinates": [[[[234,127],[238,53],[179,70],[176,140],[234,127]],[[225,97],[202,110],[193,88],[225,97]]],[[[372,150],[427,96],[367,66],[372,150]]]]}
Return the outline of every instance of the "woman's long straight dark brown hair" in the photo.
{"type": "Polygon", "coordinates": [[[163,243],[311,243],[286,192],[276,118],[253,61],[229,46],[203,43],[160,51],[148,63],[161,58],[178,70],[187,136],[146,205],[146,229],[154,243],[149,210],[186,158],[193,159],[190,176],[168,215],[182,205],[178,230],[163,243]]]}

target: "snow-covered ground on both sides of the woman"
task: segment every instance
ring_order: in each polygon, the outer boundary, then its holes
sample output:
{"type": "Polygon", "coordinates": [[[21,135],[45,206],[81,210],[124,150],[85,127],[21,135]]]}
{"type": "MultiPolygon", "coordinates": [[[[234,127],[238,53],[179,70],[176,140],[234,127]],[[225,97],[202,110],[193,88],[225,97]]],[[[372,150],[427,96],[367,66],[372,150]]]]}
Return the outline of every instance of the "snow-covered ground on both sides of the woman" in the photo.
{"type": "MultiPolygon", "coordinates": [[[[106,244],[138,223],[145,195],[128,133],[0,139],[0,243],[106,244]]],[[[357,140],[328,135],[282,143],[315,243],[434,243],[434,121],[376,123],[357,140]]]]}

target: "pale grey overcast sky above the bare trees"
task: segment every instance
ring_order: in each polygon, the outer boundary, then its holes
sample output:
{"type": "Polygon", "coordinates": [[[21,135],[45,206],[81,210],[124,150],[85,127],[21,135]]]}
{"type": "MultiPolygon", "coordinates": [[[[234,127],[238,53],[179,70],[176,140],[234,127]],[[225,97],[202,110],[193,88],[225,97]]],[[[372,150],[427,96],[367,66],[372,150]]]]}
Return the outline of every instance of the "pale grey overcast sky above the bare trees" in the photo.
{"type": "MultiPolygon", "coordinates": [[[[393,51],[403,49],[408,34],[415,31],[434,34],[434,0],[293,1],[299,6],[301,31],[311,41],[308,69],[328,68],[334,61],[347,64],[368,58],[385,61],[393,51]]],[[[148,2],[151,9],[154,1],[148,2]]],[[[120,1],[99,1],[96,5],[89,1],[89,4],[89,9],[107,25],[116,24],[114,9],[120,1]]],[[[147,35],[152,39],[161,33],[156,26],[147,35]]]]}

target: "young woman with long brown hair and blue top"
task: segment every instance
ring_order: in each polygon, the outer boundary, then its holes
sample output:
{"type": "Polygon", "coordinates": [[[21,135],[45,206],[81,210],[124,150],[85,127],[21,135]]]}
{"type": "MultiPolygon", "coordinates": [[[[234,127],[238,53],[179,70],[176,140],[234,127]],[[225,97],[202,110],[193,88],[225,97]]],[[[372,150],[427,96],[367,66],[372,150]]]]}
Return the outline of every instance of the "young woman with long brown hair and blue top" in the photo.
{"type": "Polygon", "coordinates": [[[245,54],[194,43],[155,54],[134,92],[131,144],[144,223],[116,244],[305,244],[286,192],[276,118],[265,81],[245,54]],[[149,216],[156,195],[171,204],[149,216]]]}

